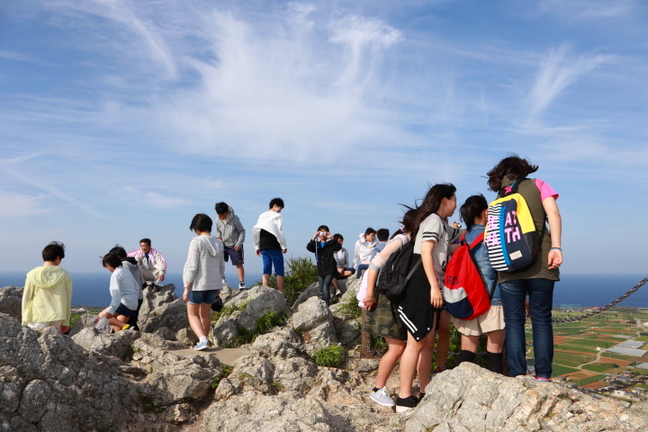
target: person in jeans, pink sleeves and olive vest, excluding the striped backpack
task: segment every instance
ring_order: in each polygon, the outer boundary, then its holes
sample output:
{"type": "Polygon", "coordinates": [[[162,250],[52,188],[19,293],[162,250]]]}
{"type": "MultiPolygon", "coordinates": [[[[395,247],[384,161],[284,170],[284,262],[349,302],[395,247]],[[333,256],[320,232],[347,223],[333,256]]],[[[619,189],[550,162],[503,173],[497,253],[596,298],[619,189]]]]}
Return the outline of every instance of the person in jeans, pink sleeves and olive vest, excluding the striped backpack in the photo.
{"type": "MultiPolygon", "coordinates": [[[[535,263],[515,273],[498,272],[500,295],[506,323],[509,376],[527,374],[527,343],[525,302],[528,296],[529,314],[533,328],[536,378],[548,382],[554,361],[554,329],[552,307],[554,284],[560,280],[559,267],[563,264],[561,236],[563,222],[556,200],[558,193],[540,179],[527,179],[537,171],[527,159],[516,155],[506,157],[488,172],[487,183],[498,197],[517,184],[518,193],[527,202],[528,210],[540,237],[540,250],[535,263]],[[545,220],[549,222],[548,232],[545,220]]],[[[488,231],[487,227],[487,231],[488,231]]],[[[487,236],[485,242],[488,244],[487,236]]]]}

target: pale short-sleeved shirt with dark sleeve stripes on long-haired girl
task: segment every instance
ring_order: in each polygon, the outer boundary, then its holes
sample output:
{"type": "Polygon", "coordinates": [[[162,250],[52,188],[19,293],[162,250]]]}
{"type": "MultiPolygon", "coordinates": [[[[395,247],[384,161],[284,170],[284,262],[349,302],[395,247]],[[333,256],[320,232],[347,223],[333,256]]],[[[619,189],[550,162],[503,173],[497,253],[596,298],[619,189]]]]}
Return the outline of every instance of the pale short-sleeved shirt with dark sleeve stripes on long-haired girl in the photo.
{"type": "Polygon", "coordinates": [[[430,214],[419,226],[414,253],[420,254],[421,243],[424,241],[436,242],[432,250],[432,259],[435,264],[435,275],[439,281],[443,281],[446,274],[448,245],[457,238],[459,238],[459,229],[450,227],[437,213],[430,214]]]}

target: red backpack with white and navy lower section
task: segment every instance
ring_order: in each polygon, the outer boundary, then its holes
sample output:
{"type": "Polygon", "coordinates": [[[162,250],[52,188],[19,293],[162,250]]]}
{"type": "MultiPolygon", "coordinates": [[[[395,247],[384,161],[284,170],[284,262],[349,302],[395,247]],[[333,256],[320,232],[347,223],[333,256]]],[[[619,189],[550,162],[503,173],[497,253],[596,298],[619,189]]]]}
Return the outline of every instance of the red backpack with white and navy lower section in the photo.
{"type": "Polygon", "coordinates": [[[469,246],[464,234],[461,246],[446,267],[443,289],[446,308],[460,320],[473,320],[491,309],[491,297],[471,254],[471,249],[482,243],[483,238],[482,232],[469,246]]]}

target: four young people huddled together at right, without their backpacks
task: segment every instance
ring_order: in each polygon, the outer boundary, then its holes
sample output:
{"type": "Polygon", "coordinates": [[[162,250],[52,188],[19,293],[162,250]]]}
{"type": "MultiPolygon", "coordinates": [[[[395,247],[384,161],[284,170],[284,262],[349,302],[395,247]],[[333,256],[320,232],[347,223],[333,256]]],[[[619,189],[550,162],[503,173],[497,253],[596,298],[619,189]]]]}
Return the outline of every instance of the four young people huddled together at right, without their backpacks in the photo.
{"type": "MultiPolygon", "coordinates": [[[[489,203],[481,194],[470,196],[464,202],[460,212],[466,223],[465,230],[458,224],[448,223],[457,207],[453,184],[435,184],[420,205],[407,207],[401,229],[369,264],[364,281],[365,295],[360,299],[367,310],[365,331],[385,338],[389,346],[380,361],[374,388],[370,392],[376,403],[395,406],[397,412],[418,405],[431,379],[437,330],[437,365],[445,365],[448,333],[440,330],[447,328],[449,320],[462,334],[462,351],[457,365],[473,361],[479,338],[486,334],[489,369],[502,373],[501,353],[506,342],[509,375],[518,376],[527,374],[524,326],[528,313],[533,327],[536,379],[549,381],[554,356],[551,322],[554,283],[559,280],[558,269],[563,263],[562,221],[556,205],[558,193],[540,179],[527,179],[537,169],[538,166],[527,159],[512,156],[502,159],[488,172],[489,189],[501,197],[515,188],[527,202],[536,231],[542,234],[536,260],[515,272],[493,269],[492,254],[485,244],[488,238],[473,247],[473,262],[491,294],[491,308],[472,320],[451,318],[445,311],[446,265],[459,247],[457,240],[464,238],[468,244],[473,243],[484,229],[492,228],[494,220],[489,214],[489,203]],[[548,230],[545,222],[548,222],[548,230]],[[399,301],[392,302],[376,291],[376,281],[389,257],[412,241],[410,279],[399,301]],[[385,384],[399,359],[401,386],[396,401],[393,401],[385,384]],[[419,375],[418,396],[412,395],[416,374],[419,375]]],[[[438,372],[442,370],[442,366],[437,368],[438,372]]]]}

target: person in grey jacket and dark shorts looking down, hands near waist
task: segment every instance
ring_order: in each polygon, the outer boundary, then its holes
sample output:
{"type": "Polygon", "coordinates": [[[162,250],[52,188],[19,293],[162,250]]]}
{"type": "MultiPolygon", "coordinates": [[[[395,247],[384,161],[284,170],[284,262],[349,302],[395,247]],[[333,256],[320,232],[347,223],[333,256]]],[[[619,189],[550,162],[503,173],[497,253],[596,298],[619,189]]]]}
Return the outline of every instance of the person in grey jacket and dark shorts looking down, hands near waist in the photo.
{"type": "MultiPolygon", "coordinates": [[[[227,202],[218,202],[216,204],[216,238],[225,245],[224,259],[232,260],[232,266],[237,267],[238,289],[245,290],[245,269],[243,268],[243,242],[245,241],[245,228],[240,223],[238,216],[234,214],[234,209],[227,202]]],[[[225,275],[223,275],[223,284],[225,275]]]]}

